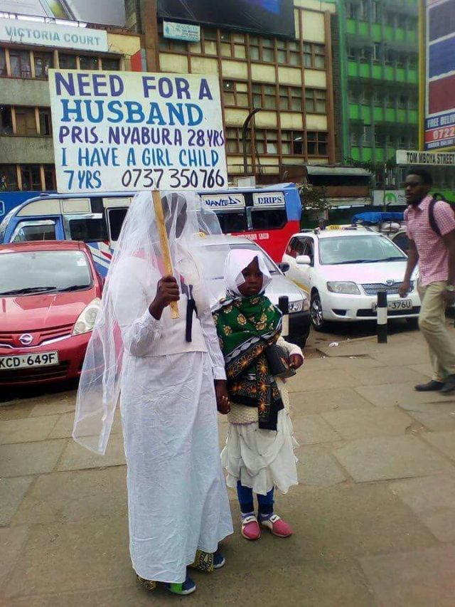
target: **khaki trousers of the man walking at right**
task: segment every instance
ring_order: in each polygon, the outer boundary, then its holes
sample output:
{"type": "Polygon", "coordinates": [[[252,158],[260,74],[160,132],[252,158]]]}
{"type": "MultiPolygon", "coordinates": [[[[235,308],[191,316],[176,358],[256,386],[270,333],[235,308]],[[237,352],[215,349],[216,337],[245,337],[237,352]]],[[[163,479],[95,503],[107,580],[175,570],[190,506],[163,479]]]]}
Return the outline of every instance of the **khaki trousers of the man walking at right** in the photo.
{"type": "Polygon", "coordinates": [[[446,281],[439,280],[422,287],[419,295],[422,307],[419,327],[427,340],[429,358],[433,368],[433,378],[444,381],[446,375],[455,374],[455,329],[450,332],[446,325],[446,303],[442,297],[446,281]]]}

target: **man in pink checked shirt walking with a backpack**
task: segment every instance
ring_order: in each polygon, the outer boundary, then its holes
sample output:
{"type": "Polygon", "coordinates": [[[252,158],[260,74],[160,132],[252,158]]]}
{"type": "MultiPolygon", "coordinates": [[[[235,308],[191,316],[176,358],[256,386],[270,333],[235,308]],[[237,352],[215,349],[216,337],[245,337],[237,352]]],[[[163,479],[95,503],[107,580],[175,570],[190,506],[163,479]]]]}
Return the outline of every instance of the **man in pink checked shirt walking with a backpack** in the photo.
{"type": "Polygon", "coordinates": [[[447,329],[445,310],[455,302],[455,213],[449,204],[437,201],[432,227],[432,184],[428,171],[413,169],[407,174],[405,220],[410,250],[400,297],[410,291],[411,275],[419,263],[419,327],[427,340],[433,376],[415,389],[451,394],[455,391],[455,333],[447,329]]]}

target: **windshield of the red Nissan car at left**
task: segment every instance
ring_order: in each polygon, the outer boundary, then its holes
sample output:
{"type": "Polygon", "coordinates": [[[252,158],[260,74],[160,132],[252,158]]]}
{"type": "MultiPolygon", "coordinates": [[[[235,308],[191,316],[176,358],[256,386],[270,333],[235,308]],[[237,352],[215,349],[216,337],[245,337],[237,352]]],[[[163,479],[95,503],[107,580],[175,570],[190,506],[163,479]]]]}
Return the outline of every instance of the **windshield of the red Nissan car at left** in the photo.
{"type": "Polygon", "coordinates": [[[0,255],[0,295],[86,289],[92,272],[79,250],[15,251],[0,255]]]}

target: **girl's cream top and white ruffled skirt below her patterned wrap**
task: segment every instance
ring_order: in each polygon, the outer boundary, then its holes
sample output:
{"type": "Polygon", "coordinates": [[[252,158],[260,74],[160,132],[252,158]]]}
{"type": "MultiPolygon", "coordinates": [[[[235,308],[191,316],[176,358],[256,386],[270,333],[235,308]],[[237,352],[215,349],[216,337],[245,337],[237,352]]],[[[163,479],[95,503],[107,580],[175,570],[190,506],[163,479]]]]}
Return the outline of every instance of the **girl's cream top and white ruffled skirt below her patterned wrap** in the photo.
{"type": "MultiPolygon", "coordinates": [[[[301,349],[279,338],[288,355],[299,354],[301,349]]],[[[282,379],[276,378],[284,408],[279,411],[277,430],[262,430],[257,422],[257,409],[232,403],[226,445],[221,452],[221,461],[228,476],[228,487],[237,487],[240,480],[256,494],[266,495],[276,487],[287,493],[289,487],[298,485],[297,458],[294,449],[299,446],[294,438],[289,416],[289,395],[282,379]]]]}

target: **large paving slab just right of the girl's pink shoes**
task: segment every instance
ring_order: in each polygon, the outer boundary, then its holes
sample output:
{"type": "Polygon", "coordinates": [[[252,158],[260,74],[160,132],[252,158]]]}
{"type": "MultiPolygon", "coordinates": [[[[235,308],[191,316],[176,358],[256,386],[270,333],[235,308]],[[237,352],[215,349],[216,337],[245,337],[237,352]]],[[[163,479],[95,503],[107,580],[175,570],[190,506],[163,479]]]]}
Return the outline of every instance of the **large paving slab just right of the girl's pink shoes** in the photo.
{"type": "MultiPolygon", "coordinates": [[[[291,487],[277,496],[277,512],[292,524],[292,542],[274,542],[276,562],[292,563],[383,554],[434,546],[436,539],[387,483],[356,485],[341,483],[333,487],[291,487]],[[284,545],[287,544],[287,545],[284,545]]],[[[262,537],[263,539],[274,539],[262,537]]],[[[242,548],[245,551],[245,547],[242,548]]],[[[245,567],[257,559],[236,553],[245,567]],[[254,560],[253,560],[254,559],[254,560]]],[[[266,561],[267,562],[267,561],[266,561]]]]}

